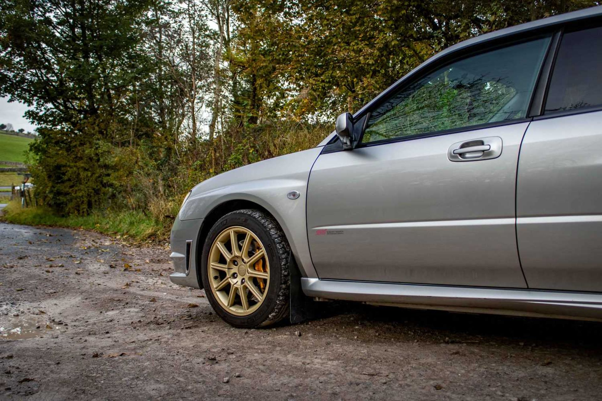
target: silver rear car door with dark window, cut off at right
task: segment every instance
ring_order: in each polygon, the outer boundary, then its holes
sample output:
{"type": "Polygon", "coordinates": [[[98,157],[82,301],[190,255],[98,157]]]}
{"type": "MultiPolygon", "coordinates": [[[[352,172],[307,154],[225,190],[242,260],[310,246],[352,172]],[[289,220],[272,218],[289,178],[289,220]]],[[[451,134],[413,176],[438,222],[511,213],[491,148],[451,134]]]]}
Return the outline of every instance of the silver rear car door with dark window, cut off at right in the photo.
{"type": "Polygon", "coordinates": [[[530,288],[600,292],[602,28],[578,29],[563,34],[521,147],[517,238],[530,288]]]}

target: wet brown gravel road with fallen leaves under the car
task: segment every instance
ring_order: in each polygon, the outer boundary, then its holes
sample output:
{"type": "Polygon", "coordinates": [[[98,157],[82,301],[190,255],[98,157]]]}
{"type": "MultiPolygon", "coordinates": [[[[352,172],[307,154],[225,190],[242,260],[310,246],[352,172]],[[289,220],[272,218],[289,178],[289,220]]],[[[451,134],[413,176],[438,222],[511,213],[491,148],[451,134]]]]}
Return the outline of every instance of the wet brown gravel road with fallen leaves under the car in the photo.
{"type": "Polygon", "coordinates": [[[321,302],[234,329],[169,251],[0,224],[0,399],[599,400],[602,324],[321,302]]]}

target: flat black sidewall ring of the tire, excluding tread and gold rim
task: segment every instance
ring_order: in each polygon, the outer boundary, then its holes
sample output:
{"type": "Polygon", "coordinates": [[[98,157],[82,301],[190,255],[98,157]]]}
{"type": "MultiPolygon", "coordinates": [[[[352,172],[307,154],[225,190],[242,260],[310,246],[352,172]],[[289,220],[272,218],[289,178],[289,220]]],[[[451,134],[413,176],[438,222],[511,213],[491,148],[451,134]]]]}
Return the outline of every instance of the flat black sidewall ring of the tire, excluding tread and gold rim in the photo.
{"type": "Polygon", "coordinates": [[[265,228],[261,221],[256,219],[254,216],[237,211],[228,213],[220,218],[216,224],[211,227],[211,230],[209,230],[209,233],[205,239],[205,243],[203,244],[203,252],[200,263],[200,278],[202,280],[203,288],[205,289],[205,295],[209,301],[209,304],[211,304],[213,310],[216,311],[216,313],[222,317],[223,320],[230,323],[232,326],[254,327],[267,320],[268,316],[270,316],[270,313],[272,313],[276,307],[276,300],[278,299],[282,284],[281,267],[281,260],[278,256],[276,243],[272,236],[270,236],[268,233],[267,228],[265,228]],[[268,285],[266,298],[255,312],[247,316],[236,316],[226,311],[214,296],[208,277],[208,259],[211,246],[216,240],[216,237],[222,233],[223,230],[234,226],[248,228],[249,230],[253,231],[253,233],[259,238],[264,246],[264,250],[269,262],[270,283],[268,285]]]}

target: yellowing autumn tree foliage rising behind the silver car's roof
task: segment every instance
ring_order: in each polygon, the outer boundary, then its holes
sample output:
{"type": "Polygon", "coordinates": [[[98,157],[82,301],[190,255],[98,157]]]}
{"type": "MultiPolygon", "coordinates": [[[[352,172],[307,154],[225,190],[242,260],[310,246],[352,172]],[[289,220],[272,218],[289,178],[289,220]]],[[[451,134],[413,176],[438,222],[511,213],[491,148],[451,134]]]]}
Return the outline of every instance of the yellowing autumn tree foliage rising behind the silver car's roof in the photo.
{"type": "Polygon", "coordinates": [[[589,0],[236,0],[237,49],[258,113],[334,117],[458,41],[589,0]],[[287,105],[283,107],[282,100],[287,105]],[[267,105],[266,103],[271,103],[267,105]]]}

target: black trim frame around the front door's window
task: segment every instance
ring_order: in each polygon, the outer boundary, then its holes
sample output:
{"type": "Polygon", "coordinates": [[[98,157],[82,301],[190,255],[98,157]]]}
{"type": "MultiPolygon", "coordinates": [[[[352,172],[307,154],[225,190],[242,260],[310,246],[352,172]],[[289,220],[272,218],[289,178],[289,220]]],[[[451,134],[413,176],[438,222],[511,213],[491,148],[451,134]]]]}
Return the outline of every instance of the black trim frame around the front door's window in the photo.
{"type": "MultiPolygon", "coordinates": [[[[374,145],[389,144],[389,143],[394,143],[394,142],[402,142],[402,141],[408,141],[411,139],[428,138],[430,136],[447,135],[448,133],[471,131],[471,130],[475,130],[475,129],[504,126],[504,125],[515,124],[515,123],[524,122],[524,121],[530,121],[531,118],[529,117],[529,112],[530,112],[532,104],[533,104],[535,92],[539,87],[539,79],[542,78],[541,77],[542,70],[544,69],[545,63],[550,54],[551,44],[554,41],[554,37],[557,34],[557,31],[558,31],[558,28],[554,27],[553,29],[545,29],[544,31],[526,32],[527,34],[519,35],[518,37],[514,37],[514,38],[504,38],[504,40],[495,41],[495,43],[486,42],[486,43],[481,44],[480,46],[478,44],[476,44],[475,46],[471,46],[468,49],[463,49],[464,52],[462,52],[460,50],[458,52],[453,52],[452,54],[448,55],[448,57],[444,57],[441,60],[438,60],[436,63],[433,63],[432,65],[430,65],[428,67],[425,67],[423,70],[417,71],[414,74],[415,76],[413,76],[407,82],[402,82],[399,85],[397,85],[396,87],[392,88],[392,90],[390,91],[388,96],[383,97],[382,99],[379,99],[379,102],[374,103],[374,105],[371,105],[370,108],[366,112],[362,113],[361,115],[358,115],[358,117],[355,117],[354,120],[359,120],[360,118],[364,117],[365,114],[371,113],[374,109],[378,108],[380,105],[385,103],[388,99],[391,99],[391,97],[396,96],[396,94],[398,94],[400,91],[403,91],[405,88],[415,84],[416,82],[420,81],[421,79],[423,79],[425,76],[429,75],[430,73],[435,72],[436,70],[441,69],[442,67],[445,67],[449,64],[455,63],[456,61],[465,60],[466,58],[473,57],[475,55],[485,54],[485,53],[495,51],[498,49],[503,49],[504,47],[509,47],[509,46],[514,46],[515,44],[525,43],[527,41],[538,40],[538,39],[542,39],[542,38],[550,38],[550,43],[548,43],[547,49],[545,49],[544,58],[541,61],[541,65],[539,66],[539,70],[536,75],[535,85],[533,87],[533,91],[531,93],[529,103],[527,105],[526,117],[515,118],[514,120],[502,120],[502,121],[494,121],[492,123],[483,123],[483,124],[475,124],[475,125],[470,125],[470,126],[462,126],[462,127],[446,129],[446,130],[430,131],[430,132],[418,133],[416,135],[399,136],[397,138],[381,139],[380,141],[373,141],[373,142],[367,142],[367,143],[362,142],[362,140],[364,139],[364,133],[365,133],[365,124],[364,124],[364,127],[362,127],[362,133],[360,135],[358,145],[356,146],[356,148],[370,147],[370,146],[374,146],[374,145]]],[[[555,53],[556,52],[554,51],[554,55],[555,55],[555,53]]],[[[368,119],[366,119],[366,122],[367,121],[368,121],[368,119]]]]}

